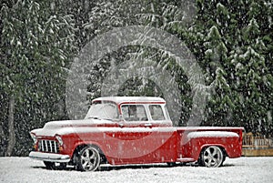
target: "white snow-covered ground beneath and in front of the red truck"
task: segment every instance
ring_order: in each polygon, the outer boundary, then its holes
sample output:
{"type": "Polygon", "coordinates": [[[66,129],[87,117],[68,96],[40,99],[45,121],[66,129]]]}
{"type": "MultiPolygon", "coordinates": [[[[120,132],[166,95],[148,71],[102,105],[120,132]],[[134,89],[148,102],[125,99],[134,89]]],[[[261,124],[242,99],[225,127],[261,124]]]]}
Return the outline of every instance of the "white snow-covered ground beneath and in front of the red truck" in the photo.
{"type": "Polygon", "coordinates": [[[262,182],[273,181],[272,158],[229,159],[221,168],[190,165],[167,167],[122,166],[96,172],[78,172],[72,168],[47,170],[43,162],[30,158],[0,158],[0,182],[262,182]]]}

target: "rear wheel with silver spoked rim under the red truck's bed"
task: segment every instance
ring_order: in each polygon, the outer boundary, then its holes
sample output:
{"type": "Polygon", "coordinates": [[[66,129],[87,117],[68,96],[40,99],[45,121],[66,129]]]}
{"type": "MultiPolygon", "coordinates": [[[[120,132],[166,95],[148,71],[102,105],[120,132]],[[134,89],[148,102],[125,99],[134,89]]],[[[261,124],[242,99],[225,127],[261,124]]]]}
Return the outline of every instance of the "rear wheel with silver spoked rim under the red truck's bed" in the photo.
{"type": "Polygon", "coordinates": [[[222,165],[225,155],[220,147],[206,147],[200,154],[199,163],[207,168],[217,168],[222,165]]]}

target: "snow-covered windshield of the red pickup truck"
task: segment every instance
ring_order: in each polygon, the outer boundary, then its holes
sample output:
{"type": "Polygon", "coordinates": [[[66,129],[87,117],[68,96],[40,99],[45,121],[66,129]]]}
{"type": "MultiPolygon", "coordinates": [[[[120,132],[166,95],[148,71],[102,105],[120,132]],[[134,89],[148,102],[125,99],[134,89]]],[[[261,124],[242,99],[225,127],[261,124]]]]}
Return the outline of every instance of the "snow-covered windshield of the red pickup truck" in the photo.
{"type": "Polygon", "coordinates": [[[115,103],[96,102],[92,104],[85,118],[111,119],[118,118],[118,110],[115,103]]]}

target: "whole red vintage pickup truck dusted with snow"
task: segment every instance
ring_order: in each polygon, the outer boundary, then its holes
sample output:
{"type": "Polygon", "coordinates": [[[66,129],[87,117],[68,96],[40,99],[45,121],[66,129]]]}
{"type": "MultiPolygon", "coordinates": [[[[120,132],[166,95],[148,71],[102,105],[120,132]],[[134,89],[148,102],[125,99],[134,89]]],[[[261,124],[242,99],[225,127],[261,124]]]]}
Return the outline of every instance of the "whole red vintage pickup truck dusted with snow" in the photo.
{"type": "Polygon", "coordinates": [[[172,127],[160,97],[99,97],[82,120],[52,121],[30,132],[29,157],[46,168],[195,162],[219,167],[242,153],[243,127],[172,127]]]}

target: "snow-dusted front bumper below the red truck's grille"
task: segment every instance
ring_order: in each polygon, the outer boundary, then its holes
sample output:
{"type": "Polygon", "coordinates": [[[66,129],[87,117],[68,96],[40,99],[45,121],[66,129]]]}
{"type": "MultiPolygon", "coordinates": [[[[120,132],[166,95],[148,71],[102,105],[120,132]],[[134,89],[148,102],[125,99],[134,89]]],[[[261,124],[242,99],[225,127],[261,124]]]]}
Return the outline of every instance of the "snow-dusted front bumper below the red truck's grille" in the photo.
{"type": "Polygon", "coordinates": [[[37,160],[50,161],[56,163],[67,163],[70,161],[68,155],[60,155],[54,153],[44,153],[44,152],[35,152],[31,151],[28,155],[29,158],[34,158],[37,160]]]}

